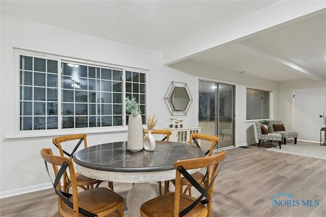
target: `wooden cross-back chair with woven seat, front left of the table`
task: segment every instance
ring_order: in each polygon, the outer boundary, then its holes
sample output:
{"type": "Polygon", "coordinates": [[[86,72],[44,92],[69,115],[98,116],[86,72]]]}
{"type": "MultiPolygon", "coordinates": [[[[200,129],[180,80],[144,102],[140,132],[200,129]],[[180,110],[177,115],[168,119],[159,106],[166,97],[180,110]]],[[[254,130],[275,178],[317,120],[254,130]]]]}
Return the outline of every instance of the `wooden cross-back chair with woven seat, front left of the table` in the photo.
{"type": "Polygon", "coordinates": [[[48,163],[52,164],[55,173],[55,181],[53,182],[52,179],[51,181],[57,194],[59,216],[114,215],[123,217],[123,198],[114,191],[99,187],[78,192],[72,158],[56,156],[51,148],[42,148],[41,157],[50,179],[48,163]],[[61,177],[67,170],[70,173],[72,194],[61,189],[61,177]]]}

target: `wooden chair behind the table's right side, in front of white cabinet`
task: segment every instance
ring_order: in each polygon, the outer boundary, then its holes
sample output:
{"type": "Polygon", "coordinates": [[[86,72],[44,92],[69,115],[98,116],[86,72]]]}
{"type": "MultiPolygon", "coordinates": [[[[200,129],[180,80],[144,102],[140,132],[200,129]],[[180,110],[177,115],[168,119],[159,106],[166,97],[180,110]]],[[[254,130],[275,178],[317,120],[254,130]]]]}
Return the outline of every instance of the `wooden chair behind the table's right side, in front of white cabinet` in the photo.
{"type": "MultiPolygon", "coordinates": [[[[219,142],[219,137],[217,136],[212,136],[212,135],[207,135],[207,134],[198,134],[198,133],[193,133],[190,135],[190,139],[189,139],[189,145],[196,145],[197,147],[200,148],[199,144],[198,144],[198,139],[200,140],[206,140],[206,141],[210,141],[211,145],[210,145],[210,149],[209,151],[205,152],[205,155],[207,156],[211,156],[214,150],[214,147],[216,145],[216,143],[219,142]]],[[[195,172],[194,174],[192,174],[193,178],[199,183],[201,184],[204,188],[206,188],[206,175],[201,173],[201,172],[195,172]]],[[[175,180],[170,180],[173,184],[175,184],[175,180]]],[[[165,188],[165,193],[168,192],[168,187],[169,187],[169,183],[166,184],[166,188],[165,188]]],[[[189,192],[189,196],[192,196],[192,187],[193,185],[184,177],[181,178],[181,191],[183,191],[183,193],[185,194],[186,192],[189,192]],[[186,186],[186,188],[183,190],[183,186],[186,186]]]]}

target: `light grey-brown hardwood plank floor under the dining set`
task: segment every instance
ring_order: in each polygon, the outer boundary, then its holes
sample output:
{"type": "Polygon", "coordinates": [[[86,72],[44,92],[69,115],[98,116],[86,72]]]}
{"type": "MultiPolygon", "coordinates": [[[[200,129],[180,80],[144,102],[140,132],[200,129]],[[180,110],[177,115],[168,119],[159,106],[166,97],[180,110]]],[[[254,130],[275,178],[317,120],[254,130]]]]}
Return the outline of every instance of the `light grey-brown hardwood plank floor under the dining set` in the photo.
{"type": "MultiPolygon", "coordinates": [[[[263,143],[227,150],[215,182],[212,216],[326,216],[326,160],[265,151],[268,147],[263,143]],[[281,195],[276,198],[283,200],[281,205],[272,207],[271,198],[280,193],[291,194],[292,199],[281,195]]],[[[101,185],[107,187],[107,182],[101,185]]],[[[158,192],[158,184],[152,185],[158,192]]],[[[115,182],[114,188],[125,199],[131,184],[115,182]]],[[[58,216],[53,189],[0,202],[1,216],[58,216]]]]}

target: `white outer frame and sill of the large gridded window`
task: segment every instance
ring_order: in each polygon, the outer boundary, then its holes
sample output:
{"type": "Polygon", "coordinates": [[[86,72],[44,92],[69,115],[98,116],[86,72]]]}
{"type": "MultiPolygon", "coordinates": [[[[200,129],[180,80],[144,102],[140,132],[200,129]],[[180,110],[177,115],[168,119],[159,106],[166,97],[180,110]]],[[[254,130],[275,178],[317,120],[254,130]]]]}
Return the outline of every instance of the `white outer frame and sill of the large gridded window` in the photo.
{"type": "MultiPolygon", "coordinates": [[[[131,71],[135,73],[145,74],[145,105],[149,104],[149,70],[132,68],[126,66],[119,66],[114,64],[102,63],[93,60],[78,59],[74,57],[66,57],[62,55],[48,54],[43,52],[36,52],[24,49],[14,48],[14,106],[15,106],[15,120],[14,120],[14,135],[8,138],[25,138],[25,137],[43,137],[43,136],[53,136],[53,135],[68,135],[75,133],[104,133],[104,132],[125,132],[128,130],[127,126],[127,116],[125,109],[125,96],[126,96],[126,71],[131,71]],[[58,129],[44,129],[44,130],[20,130],[20,55],[38,57],[44,59],[51,59],[58,61],[58,129]],[[85,128],[63,128],[62,118],[62,99],[61,99],[61,79],[62,79],[62,63],[72,63],[79,65],[86,65],[89,67],[103,67],[110,68],[112,70],[122,71],[122,126],[104,126],[104,127],[85,127],[85,128]]],[[[34,86],[34,84],[33,84],[34,86]]],[[[114,92],[114,91],[112,91],[114,92]]],[[[113,99],[112,99],[113,100],[113,99]]],[[[33,99],[34,102],[34,99],[33,99]]],[[[76,102],[74,102],[75,104],[76,102]]],[[[89,102],[87,103],[89,106],[89,102]]],[[[112,103],[113,104],[113,103],[112,103]]],[[[145,111],[142,112],[145,116],[149,114],[149,106],[146,106],[145,111]],[[145,114],[144,114],[145,113],[145,114]]],[[[76,116],[76,115],[74,115],[76,116]]],[[[112,114],[113,116],[113,114],[112,114]]],[[[34,117],[34,114],[33,114],[34,117]]],[[[146,125],[146,122],[144,126],[146,125]]]]}

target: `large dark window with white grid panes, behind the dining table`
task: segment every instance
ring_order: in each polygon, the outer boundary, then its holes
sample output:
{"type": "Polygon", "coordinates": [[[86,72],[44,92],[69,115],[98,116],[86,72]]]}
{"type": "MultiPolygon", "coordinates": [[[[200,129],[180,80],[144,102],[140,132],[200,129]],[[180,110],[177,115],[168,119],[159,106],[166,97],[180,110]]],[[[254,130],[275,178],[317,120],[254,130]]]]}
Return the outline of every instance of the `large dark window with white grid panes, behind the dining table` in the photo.
{"type": "Polygon", "coordinates": [[[19,130],[125,127],[125,97],[146,124],[146,72],[19,54],[19,130]]]}

